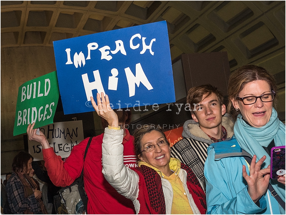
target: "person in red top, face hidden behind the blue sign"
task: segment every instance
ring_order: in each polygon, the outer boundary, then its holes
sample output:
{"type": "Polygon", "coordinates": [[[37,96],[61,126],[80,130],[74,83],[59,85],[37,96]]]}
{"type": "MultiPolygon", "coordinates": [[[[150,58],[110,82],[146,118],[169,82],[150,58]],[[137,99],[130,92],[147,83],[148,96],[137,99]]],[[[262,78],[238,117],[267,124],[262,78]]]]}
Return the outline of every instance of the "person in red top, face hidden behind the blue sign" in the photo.
{"type": "MultiPolygon", "coordinates": [[[[124,128],[124,125],[130,122],[130,112],[124,109],[116,111],[121,127],[124,128]]],[[[82,167],[84,167],[83,178],[85,192],[88,196],[88,214],[135,214],[132,201],[120,195],[101,173],[103,133],[93,137],[83,165],[83,156],[89,138],[74,146],[70,156],[63,162],[61,157],[54,153],[54,149],[51,148],[44,134],[40,132],[40,135],[36,135],[36,129],[33,127],[34,124],[28,126],[28,137],[42,145],[45,167],[54,185],[62,187],[70,185],[80,176],[82,167]]],[[[137,165],[133,142],[134,137],[125,129],[122,144],[123,163],[127,167],[137,165]]]]}

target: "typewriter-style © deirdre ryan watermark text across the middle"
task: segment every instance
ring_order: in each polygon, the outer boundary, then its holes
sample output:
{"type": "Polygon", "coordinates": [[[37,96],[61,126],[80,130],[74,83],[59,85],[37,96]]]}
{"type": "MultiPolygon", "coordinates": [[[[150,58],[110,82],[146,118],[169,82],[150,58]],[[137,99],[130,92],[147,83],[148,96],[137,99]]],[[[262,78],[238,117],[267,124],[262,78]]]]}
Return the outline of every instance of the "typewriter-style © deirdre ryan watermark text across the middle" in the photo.
{"type": "MultiPolygon", "coordinates": [[[[135,104],[132,103],[124,103],[126,108],[125,111],[130,111],[131,108],[133,108],[134,111],[149,111],[149,109],[151,109],[150,107],[152,107],[153,111],[158,111],[159,110],[159,104],[154,103],[154,104],[149,104],[149,103],[140,103],[140,101],[136,101],[135,104]],[[149,109],[148,109],[148,108],[149,109]]],[[[176,106],[176,114],[180,114],[180,112],[183,110],[185,111],[197,111],[197,106],[199,106],[199,104],[193,104],[193,109],[191,109],[191,104],[184,104],[184,103],[166,103],[168,105],[168,109],[166,111],[172,111],[172,109],[170,109],[170,107],[172,106],[176,106]]],[[[92,107],[92,103],[91,101],[86,101],[85,105],[89,108],[93,108],[92,107]]],[[[118,103],[116,103],[116,105],[113,105],[110,103],[110,107],[112,109],[117,109],[117,111],[123,111],[123,109],[121,108],[121,101],[118,100],[118,103]]],[[[199,110],[198,110],[199,111],[199,110]]]]}

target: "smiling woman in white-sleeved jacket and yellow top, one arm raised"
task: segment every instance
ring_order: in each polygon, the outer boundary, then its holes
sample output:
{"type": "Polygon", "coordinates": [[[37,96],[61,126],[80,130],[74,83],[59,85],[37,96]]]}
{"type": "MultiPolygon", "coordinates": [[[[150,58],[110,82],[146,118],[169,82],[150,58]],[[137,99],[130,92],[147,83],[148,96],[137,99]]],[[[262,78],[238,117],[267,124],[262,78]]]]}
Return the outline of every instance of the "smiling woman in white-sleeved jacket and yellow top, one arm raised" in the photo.
{"type": "MultiPolygon", "coordinates": [[[[192,170],[171,158],[164,132],[155,125],[144,125],[134,132],[138,167],[123,165],[123,130],[110,108],[108,96],[97,94],[91,101],[99,116],[108,122],[102,143],[105,179],[117,192],[133,201],[137,214],[205,214],[206,200],[192,170]],[[102,100],[102,101],[101,101],[102,100]]],[[[126,159],[126,158],[124,158],[126,159]]]]}

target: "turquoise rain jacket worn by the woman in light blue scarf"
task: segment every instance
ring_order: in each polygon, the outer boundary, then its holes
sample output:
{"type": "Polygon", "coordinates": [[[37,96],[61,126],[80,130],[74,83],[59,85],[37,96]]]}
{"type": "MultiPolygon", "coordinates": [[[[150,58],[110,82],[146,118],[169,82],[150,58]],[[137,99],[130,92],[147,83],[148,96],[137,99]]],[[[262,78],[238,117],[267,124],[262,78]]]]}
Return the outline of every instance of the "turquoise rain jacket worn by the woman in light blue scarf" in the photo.
{"type": "MultiPolygon", "coordinates": [[[[247,192],[242,165],[249,167],[235,138],[211,144],[204,166],[207,193],[207,214],[280,214],[278,202],[269,190],[257,206],[247,192]],[[268,193],[268,194],[267,194],[268,193]],[[269,204],[270,203],[270,204],[269,204]]],[[[249,175],[249,168],[246,168],[249,175]]]]}

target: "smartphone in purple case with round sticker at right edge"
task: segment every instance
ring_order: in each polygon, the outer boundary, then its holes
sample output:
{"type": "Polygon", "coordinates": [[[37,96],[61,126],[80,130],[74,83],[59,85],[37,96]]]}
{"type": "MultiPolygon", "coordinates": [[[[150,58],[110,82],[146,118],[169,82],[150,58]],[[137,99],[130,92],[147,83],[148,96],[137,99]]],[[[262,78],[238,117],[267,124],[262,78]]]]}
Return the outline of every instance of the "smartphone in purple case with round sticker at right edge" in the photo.
{"type": "Polygon", "coordinates": [[[278,179],[285,174],[285,146],[275,146],[271,149],[270,178],[278,179]]]}

